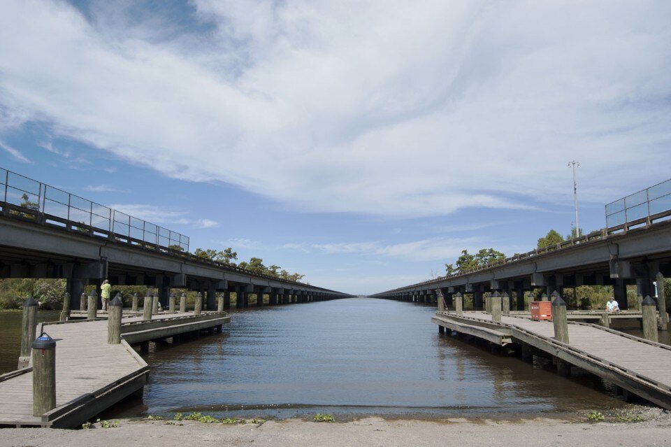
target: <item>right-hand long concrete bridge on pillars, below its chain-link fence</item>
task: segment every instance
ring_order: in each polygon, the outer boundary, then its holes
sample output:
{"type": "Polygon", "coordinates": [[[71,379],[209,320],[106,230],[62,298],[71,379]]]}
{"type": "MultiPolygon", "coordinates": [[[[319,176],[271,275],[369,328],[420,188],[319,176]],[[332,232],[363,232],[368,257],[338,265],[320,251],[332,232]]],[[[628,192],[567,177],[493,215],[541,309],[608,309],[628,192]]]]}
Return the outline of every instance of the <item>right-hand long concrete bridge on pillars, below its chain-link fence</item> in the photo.
{"type": "MultiPolygon", "coordinates": [[[[671,211],[593,232],[542,250],[509,257],[496,264],[371,295],[373,297],[438,303],[442,294],[452,306],[456,293],[472,294],[473,307],[483,308],[486,292],[507,293],[511,308],[524,310],[524,294],[544,288],[612,285],[621,309],[626,309],[626,287],[638,295],[655,297],[657,274],[671,274],[671,211]]],[[[438,303],[442,305],[442,303],[438,303]]],[[[663,312],[663,309],[660,309],[663,312]]]]}

